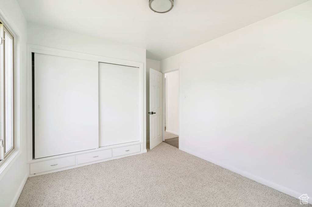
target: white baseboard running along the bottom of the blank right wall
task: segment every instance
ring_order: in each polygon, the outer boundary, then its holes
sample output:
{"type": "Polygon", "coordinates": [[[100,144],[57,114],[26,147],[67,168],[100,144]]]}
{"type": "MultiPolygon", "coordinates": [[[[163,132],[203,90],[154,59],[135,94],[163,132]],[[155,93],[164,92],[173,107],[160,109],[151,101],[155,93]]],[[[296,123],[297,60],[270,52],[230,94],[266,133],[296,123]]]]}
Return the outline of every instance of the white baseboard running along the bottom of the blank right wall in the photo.
{"type": "MultiPolygon", "coordinates": [[[[205,155],[199,154],[199,153],[197,153],[197,152],[193,152],[192,150],[188,150],[188,149],[186,149],[186,148],[184,148],[184,147],[179,147],[179,150],[182,150],[182,151],[187,152],[187,153],[189,153],[189,154],[193,154],[193,155],[195,155],[196,157],[199,157],[199,158],[202,158],[202,159],[204,159],[204,160],[207,160],[207,161],[209,161],[209,162],[211,162],[211,163],[214,163],[214,164],[216,164],[216,165],[219,165],[219,166],[221,166],[222,168],[226,168],[226,169],[228,169],[228,170],[231,170],[232,172],[237,173],[237,174],[240,174],[240,175],[242,175],[242,176],[244,176],[244,177],[248,177],[248,178],[251,179],[251,180],[254,180],[254,181],[259,182],[259,183],[261,183],[261,184],[263,184],[263,185],[266,185],[266,186],[269,186],[269,187],[271,187],[271,188],[274,188],[275,190],[278,190],[278,191],[281,191],[281,192],[283,192],[283,193],[286,193],[287,195],[291,195],[291,196],[293,196],[293,197],[295,197],[295,198],[297,198],[297,199],[299,198],[299,196],[301,196],[301,195],[303,194],[303,193],[300,193],[300,192],[291,190],[291,189],[289,189],[289,188],[286,188],[286,187],[284,187],[284,186],[281,186],[281,185],[279,185],[279,184],[277,184],[277,183],[274,183],[274,182],[271,182],[271,181],[269,181],[269,180],[266,180],[266,179],[264,179],[264,178],[262,178],[262,177],[253,175],[253,174],[251,174],[251,173],[247,173],[246,171],[240,170],[240,169],[235,168],[235,167],[233,167],[233,166],[231,166],[231,165],[228,165],[228,164],[219,162],[219,161],[217,161],[217,160],[215,160],[215,159],[212,159],[212,158],[209,158],[209,157],[207,157],[207,156],[205,156],[205,155]]],[[[298,199],[298,200],[299,200],[299,199],[298,199]]],[[[299,201],[298,201],[298,202],[299,202],[299,201]]],[[[309,200],[309,203],[312,204],[312,200],[309,200]]]]}

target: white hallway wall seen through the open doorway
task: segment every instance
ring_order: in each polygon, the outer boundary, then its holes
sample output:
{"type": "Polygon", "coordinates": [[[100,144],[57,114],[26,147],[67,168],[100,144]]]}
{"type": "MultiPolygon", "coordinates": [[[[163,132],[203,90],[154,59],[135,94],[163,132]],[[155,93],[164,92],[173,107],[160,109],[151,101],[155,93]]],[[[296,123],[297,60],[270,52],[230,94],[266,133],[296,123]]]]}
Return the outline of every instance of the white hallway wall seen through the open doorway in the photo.
{"type": "Polygon", "coordinates": [[[179,71],[165,73],[167,79],[166,131],[179,135],[179,71]]]}

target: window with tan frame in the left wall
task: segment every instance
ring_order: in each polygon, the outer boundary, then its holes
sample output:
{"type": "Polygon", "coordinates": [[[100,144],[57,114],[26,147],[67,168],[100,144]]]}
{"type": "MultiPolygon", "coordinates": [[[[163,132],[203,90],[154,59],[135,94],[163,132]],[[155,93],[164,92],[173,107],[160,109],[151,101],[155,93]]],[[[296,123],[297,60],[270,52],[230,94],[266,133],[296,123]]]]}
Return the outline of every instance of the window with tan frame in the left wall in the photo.
{"type": "Polygon", "coordinates": [[[14,41],[0,22],[0,165],[14,150],[14,41]]]}

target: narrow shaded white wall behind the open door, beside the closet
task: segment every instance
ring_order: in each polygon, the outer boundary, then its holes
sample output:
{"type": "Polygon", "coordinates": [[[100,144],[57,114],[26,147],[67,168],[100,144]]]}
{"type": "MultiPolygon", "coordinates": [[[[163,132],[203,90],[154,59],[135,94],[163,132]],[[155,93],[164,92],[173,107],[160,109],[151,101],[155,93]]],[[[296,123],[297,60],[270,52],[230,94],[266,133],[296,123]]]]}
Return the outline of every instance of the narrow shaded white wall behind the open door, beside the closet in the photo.
{"type": "Polygon", "coordinates": [[[149,68],[160,70],[160,61],[146,59],[146,141],[149,143],[149,68]]]}

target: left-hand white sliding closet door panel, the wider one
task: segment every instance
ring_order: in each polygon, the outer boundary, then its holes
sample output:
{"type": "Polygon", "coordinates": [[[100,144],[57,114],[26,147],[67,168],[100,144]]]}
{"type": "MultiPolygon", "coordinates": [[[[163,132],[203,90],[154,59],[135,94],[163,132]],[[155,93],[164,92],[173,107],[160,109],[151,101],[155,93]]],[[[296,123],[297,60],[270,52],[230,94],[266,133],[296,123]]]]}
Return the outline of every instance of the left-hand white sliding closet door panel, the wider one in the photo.
{"type": "Polygon", "coordinates": [[[35,158],[98,148],[98,62],[35,53],[35,158]]]}

